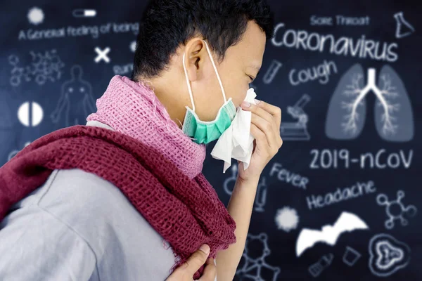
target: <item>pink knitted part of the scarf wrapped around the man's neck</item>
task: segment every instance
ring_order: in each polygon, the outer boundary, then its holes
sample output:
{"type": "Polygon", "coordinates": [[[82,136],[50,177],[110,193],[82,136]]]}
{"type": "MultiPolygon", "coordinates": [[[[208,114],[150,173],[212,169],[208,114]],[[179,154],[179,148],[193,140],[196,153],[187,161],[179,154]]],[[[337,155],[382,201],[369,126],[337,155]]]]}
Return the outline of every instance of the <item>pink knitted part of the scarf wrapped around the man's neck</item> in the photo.
{"type": "Polygon", "coordinates": [[[87,117],[111,126],[160,151],[189,178],[203,169],[205,145],[194,143],[170,118],[164,105],[145,82],[115,75],[96,100],[97,112],[87,117]]]}

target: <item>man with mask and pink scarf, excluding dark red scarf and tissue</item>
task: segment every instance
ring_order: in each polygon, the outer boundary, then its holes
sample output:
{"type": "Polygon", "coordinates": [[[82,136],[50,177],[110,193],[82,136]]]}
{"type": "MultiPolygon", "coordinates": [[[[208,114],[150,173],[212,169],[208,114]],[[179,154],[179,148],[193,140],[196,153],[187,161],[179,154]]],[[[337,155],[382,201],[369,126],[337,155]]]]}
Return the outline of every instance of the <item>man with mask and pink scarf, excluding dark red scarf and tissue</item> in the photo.
{"type": "MultiPolygon", "coordinates": [[[[153,0],[141,19],[132,79],[113,77],[87,118],[87,126],[151,145],[194,178],[205,144],[231,123],[230,110],[252,112],[250,166],[239,164],[226,209],[236,222],[236,243],[207,260],[200,280],[233,280],[260,175],[282,144],[279,107],[242,103],[273,34],[263,0],[153,0]]],[[[131,202],[97,174],[54,170],[1,223],[0,280],[193,280],[209,253],[196,251],[170,274],[174,256],[162,244],[168,233],[153,229],[131,202]]]]}

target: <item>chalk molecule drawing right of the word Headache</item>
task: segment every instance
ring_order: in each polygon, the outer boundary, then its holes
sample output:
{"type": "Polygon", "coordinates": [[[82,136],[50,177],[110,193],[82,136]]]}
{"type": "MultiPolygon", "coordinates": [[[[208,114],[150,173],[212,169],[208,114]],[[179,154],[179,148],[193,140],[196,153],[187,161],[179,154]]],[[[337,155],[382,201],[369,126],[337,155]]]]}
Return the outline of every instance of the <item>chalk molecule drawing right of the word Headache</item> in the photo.
{"type": "Polygon", "coordinates": [[[404,197],[404,191],[397,191],[397,199],[393,201],[388,201],[387,195],[381,193],[376,197],[376,202],[380,206],[385,206],[385,213],[388,216],[388,220],[385,221],[385,228],[392,229],[394,228],[394,221],[400,220],[402,226],[407,226],[409,223],[404,216],[416,216],[418,211],[414,205],[408,205],[404,207],[402,203],[402,198],[404,197]]]}

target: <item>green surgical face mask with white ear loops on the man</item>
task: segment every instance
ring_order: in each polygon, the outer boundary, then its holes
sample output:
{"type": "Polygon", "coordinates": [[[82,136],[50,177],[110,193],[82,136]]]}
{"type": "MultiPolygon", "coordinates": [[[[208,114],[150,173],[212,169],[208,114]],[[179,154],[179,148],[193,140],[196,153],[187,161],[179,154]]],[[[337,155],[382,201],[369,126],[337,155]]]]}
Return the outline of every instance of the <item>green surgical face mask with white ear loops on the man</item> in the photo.
{"type": "Polygon", "coordinates": [[[186,106],[186,115],[184,122],[182,124],[182,131],[189,137],[193,138],[195,143],[210,143],[215,141],[217,138],[222,136],[222,133],[229,128],[231,122],[236,115],[236,107],[234,106],[231,98],[226,100],[226,93],[224,93],[222,81],[219,78],[217,72],[217,67],[215,67],[214,60],[210,49],[208,48],[207,42],[204,41],[205,46],[207,47],[208,55],[210,55],[210,60],[212,67],[214,67],[215,74],[217,74],[217,79],[219,81],[220,88],[222,89],[224,104],[218,110],[217,117],[213,121],[202,121],[199,119],[198,115],[195,113],[195,104],[193,103],[193,96],[191,90],[191,84],[188,79],[188,72],[186,72],[186,65],[184,63],[185,54],[183,54],[183,67],[186,76],[186,83],[188,84],[189,96],[191,96],[192,109],[186,106]]]}

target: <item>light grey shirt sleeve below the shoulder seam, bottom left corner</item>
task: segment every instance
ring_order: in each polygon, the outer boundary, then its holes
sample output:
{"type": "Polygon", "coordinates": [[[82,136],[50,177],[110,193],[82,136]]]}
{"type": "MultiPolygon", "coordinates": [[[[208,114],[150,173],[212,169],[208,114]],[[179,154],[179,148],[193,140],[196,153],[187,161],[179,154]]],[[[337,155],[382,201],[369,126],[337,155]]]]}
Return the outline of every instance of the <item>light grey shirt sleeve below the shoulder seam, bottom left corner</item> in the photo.
{"type": "Polygon", "coordinates": [[[96,255],[83,237],[37,204],[15,207],[0,224],[0,280],[88,280],[96,274],[96,255]]]}

